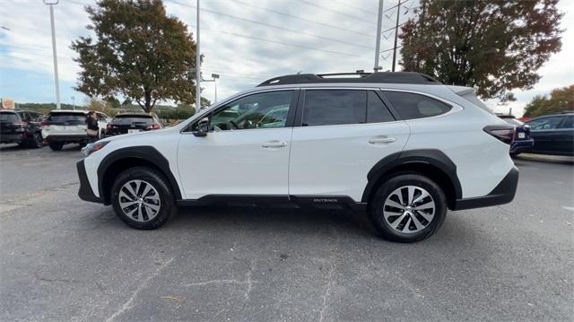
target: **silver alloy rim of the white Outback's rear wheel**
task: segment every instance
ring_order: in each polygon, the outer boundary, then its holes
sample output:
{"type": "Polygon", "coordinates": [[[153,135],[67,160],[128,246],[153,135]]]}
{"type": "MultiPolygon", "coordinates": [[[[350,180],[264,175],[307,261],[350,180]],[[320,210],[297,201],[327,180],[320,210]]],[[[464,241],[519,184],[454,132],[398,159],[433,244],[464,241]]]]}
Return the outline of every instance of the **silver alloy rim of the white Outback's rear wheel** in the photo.
{"type": "Polygon", "coordinates": [[[422,187],[399,187],[387,196],[383,216],[395,231],[414,233],[426,228],[434,218],[435,204],[422,187]]]}

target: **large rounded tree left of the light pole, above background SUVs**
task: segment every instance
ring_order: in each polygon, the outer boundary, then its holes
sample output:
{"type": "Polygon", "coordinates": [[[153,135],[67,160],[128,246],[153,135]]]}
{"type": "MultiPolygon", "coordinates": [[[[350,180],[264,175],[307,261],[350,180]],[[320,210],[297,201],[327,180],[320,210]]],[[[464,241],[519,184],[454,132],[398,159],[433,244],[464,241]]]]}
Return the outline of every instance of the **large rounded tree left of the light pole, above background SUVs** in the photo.
{"type": "Polygon", "coordinates": [[[77,91],[120,94],[150,112],[158,100],[193,102],[196,43],[161,0],[100,0],[86,6],[95,37],[72,43],[82,67],[77,91]]]}

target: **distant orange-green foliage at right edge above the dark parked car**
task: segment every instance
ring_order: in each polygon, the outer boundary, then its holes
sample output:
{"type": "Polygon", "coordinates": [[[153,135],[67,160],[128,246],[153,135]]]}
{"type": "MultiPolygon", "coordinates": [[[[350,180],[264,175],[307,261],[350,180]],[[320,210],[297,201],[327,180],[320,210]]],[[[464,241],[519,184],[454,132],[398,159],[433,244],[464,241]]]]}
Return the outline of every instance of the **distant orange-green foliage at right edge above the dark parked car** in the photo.
{"type": "Polygon", "coordinates": [[[535,96],[527,105],[525,117],[539,117],[562,111],[574,111],[574,85],[555,89],[546,96],[535,96]]]}

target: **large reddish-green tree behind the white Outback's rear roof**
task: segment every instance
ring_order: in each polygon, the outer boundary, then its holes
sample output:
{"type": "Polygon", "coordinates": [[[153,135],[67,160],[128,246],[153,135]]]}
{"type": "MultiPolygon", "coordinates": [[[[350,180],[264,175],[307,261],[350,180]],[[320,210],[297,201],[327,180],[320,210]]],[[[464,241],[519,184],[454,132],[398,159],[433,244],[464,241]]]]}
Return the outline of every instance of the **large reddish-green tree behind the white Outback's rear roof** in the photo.
{"type": "Polygon", "coordinates": [[[512,100],[561,48],[558,0],[421,0],[418,19],[402,27],[405,71],[475,86],[484,99],[512,100]]]}

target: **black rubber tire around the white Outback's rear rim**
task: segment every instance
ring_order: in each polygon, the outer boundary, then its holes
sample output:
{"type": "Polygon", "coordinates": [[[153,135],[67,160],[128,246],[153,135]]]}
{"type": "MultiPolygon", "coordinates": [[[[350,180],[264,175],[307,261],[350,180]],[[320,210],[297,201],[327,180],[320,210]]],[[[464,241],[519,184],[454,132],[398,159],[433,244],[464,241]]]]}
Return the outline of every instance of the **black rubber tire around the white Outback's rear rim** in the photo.
{"type": "MultiPolygon", "coordinates": [[[[401,190],[404,191],[404,190],[401,190]]],[[[407,194],[408,194],[408,187],[407,187],[407,194]]],[[[419,190],[417,190],[419,191],[419,190]]],[[[421,191],[422,192],[422,191],[421,191]]],[[[415,192],[416,193],[416,192],[415,192]]],[[[404,196],[404,195],[402,195],[404,196]]],[[[418,195],[421,196],[421,195],[418,195]]],[[[408,198],[408,196],[406,196],[408,198]]],[[[393,200],[393,196],[390,197],[393,200]]],[[[413,197],[416,199],[416,195],[413,197]]],[[[421,203],[424,204],[431,199],[424,198],[421,200],[421,203]]],[[[414,204],[414,205],[422,205],[421,203],[414,204]]],[[[411,206],[411,205],[410,205],[411,206]]],[[[407,210],[404,210],[406,212],[407,210]]],[[[389,178],[385,183],[383,183],[380,187],[378,187],[377,192],[370,200],[369,205],[369,213],[370,213],[370,220],[375,226],[375,229],[380,233],[383,239],[398,241],[398,242],[414,242],[419,241],[422,239],[429,238],[435,231],[437,231],[442,223],[445,221],[445,217],[447,215],[447,197],[442,189],[437,185],[434,181],[430,178],[424,177],[420,174],[399,174],[396,177],[389,178]],[[408,230],[410,232],[403,232],[394,229],[391,226],[391,223],[395,222],[387,222],[385,219],[385,215],[383,214],[383,210],[387,209],[387,211],[391,211],[391,213],[395,213],[398,208],[385,207],[385,202],[387,198],[391,196],[397,189],[401,187],[412,186],[415,188],[422,188],[426,190],[426,192],[431,196],[432,201],[434,202],[434,215],[431,218],[431,221],[425,221],[424,217],[419,213],[418,210],[412,210],[410,207],[408,209],[409,212],[404,215],[404,218],[401,220],[403,222],[397,222],[399,228],[402,226],[402,230],[408,230]],[[416,216],[414,219],[409,218],[409,216],[416,216]],[[414,220],[418,221],[419,223],[426,223],[426,226],[422,228],[420,231],[416,231],[416,225],[414,224],[414,220]],[[406,224],[409,224],[409,227],[404,227],[406,224]],[[413,227],[413,231],[410,228],[413,227]]],[[[401,213],[402,214],[402,213],[401,213]]],[[[426,213],[425,213],[426,214],[426,213]]],[[[427,214],[428,215],[428,214],[427,214]]],[[[389,221],[392,219],[399,220],[401,219],[401,215],[397,216],[389,216],[389,221]]],[[[424,225],[422,224],[422,226],[424,225]]]]}

